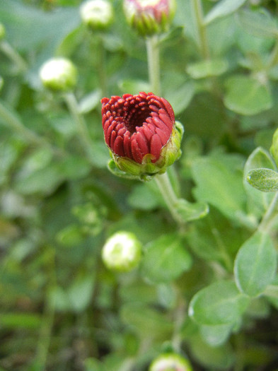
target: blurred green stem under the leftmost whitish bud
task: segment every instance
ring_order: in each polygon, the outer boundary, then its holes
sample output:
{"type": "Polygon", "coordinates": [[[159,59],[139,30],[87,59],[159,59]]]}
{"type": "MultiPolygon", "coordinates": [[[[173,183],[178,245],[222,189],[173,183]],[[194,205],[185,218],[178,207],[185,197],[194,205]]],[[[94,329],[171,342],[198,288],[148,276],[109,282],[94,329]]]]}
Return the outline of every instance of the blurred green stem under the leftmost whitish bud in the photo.
{"type": "Polygon", "coordinates": [[[69,109],[69,112],[71,113],[71,116],[73,117],[74,122],[76,123],[76,128],[79,132],[80,139],[83,142],[88,158],[92,160],[93,145],[91,143],[91,136],[86,126],[86,122],[83,119],[83,116],[79,113],[79,107],[74,93],[66,93],[64,95],[64,100],[66,101],[66,105],[69,109]]]}

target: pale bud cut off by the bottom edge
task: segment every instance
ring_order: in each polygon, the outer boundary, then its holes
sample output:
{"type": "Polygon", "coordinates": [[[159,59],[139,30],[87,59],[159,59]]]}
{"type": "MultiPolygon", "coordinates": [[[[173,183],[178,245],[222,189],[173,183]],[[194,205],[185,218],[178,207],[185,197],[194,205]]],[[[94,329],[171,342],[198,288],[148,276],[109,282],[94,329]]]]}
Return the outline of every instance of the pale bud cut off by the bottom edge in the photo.
{"type": "Polygon", "coordinates": [[[163,353],[151,363],[149,371],[192,371],[192,367],[179,354],[163,353]]]}

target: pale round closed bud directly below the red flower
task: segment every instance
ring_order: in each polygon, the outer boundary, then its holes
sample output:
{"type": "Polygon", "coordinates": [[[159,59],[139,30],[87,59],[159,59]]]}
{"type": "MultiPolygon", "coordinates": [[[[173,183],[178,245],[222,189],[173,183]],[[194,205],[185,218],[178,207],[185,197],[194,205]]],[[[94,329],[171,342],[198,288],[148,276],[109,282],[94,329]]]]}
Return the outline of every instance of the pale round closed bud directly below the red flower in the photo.
{"type": "Polygon", "coordinates": [[[141,243],[131,232],[117,232],[105,243],[103,262],[108,269],[127,272],[134,269],[141,259],[141,243]]]}

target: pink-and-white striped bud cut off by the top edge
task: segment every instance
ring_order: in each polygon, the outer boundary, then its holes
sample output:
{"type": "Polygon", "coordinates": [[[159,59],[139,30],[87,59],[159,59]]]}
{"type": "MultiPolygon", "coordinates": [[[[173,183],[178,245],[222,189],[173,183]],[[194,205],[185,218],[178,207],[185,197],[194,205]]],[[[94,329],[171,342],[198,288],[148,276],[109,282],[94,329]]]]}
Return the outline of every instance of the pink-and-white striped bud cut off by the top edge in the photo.
{"type": "Polygon", "coordinates": [[[175,0],[124,0],[127,22],[142,36],[168,29],[175,14],[175,0]]]}

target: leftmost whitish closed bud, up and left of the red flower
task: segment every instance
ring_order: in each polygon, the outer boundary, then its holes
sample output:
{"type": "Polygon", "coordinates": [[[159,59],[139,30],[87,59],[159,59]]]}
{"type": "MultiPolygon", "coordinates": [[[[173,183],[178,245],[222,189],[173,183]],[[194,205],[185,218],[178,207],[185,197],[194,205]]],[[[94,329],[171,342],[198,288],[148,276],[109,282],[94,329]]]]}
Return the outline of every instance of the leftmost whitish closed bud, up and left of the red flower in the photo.
{"type": "Polygon", "coordinates": [[[42,65],[40,79],[45,88],[68,91],[76,86],[77,70],[69,59],[53,58],[42,65]]]}

